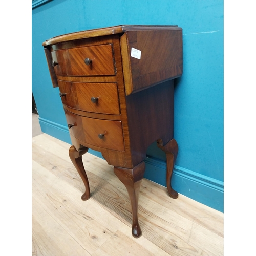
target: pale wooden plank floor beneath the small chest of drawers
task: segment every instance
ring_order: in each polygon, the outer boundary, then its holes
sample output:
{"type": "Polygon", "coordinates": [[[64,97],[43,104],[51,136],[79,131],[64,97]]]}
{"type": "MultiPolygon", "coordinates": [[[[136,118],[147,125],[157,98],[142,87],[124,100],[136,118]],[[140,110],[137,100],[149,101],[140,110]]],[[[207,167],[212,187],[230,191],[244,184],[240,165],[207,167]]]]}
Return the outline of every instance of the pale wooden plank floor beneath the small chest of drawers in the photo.
{"type": "Polygon", "coordinates": [[[113,166],[83,156],[91,198],[68,155],[70,145],[47,134],[32,138],[32,255],[223,255],[223,214],[143,179],[142,236],[131,234],[130,201],[113,166]]]}

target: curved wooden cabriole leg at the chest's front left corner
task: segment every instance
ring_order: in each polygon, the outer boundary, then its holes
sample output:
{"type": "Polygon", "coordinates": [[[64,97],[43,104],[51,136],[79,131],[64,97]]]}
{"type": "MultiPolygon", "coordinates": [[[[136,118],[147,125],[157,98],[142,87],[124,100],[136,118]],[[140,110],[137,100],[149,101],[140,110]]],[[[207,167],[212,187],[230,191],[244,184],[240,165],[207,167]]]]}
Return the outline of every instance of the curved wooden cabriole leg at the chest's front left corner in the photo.
{"type": "Polygon", "coordinates": [[[82,155],[87,153],[87,151],[88,151],[87,147],[83,147],[79,149],[79,151],[77,151],[74,146],[71,146],[69,149],[69,157],[72,163],[74,164],[74,166],[76,167],[80,177],[82,178],[84,186],[86,187],[86,191],[81,197],[83,201],[86,201],[90,198],[89,181],[86,175],[86,170],[84,170],[83,163],[82,163],[82,155]]]}

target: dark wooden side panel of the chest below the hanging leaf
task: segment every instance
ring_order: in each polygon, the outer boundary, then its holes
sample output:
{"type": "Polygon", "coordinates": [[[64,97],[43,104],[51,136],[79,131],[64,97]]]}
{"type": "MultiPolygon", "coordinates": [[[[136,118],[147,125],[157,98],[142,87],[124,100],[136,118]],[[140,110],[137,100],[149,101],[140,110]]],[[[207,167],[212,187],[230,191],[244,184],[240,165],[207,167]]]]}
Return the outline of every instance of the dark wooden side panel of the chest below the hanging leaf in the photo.
{"type": "Polygon", "coordinates": [[[173,80],[126,97],[133,164],[146,158],[146,150],[154,141],[167,143],[174,136],[173,80]],[[139,110],[139,111],[138,111],[139,110]],[[140,131],[140,133],[138,132],[140,131]]]}

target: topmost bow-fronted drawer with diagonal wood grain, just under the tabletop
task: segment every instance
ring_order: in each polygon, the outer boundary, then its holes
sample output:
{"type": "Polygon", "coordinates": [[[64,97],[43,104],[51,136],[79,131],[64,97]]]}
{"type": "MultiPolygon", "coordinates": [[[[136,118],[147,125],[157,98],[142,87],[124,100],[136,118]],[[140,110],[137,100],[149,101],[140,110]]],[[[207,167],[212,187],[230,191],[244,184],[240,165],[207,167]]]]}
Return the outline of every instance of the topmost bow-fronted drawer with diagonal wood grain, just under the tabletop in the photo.
{"type": "Polygon", "coordinates": [[[115,63],[112,45],[78,47],[52,52],[55,62],[54,71],[57,75],[67,76],[98,76],[115,75],[115,63]],[[90,59],[89,64],[86,59],[90,59]]]}

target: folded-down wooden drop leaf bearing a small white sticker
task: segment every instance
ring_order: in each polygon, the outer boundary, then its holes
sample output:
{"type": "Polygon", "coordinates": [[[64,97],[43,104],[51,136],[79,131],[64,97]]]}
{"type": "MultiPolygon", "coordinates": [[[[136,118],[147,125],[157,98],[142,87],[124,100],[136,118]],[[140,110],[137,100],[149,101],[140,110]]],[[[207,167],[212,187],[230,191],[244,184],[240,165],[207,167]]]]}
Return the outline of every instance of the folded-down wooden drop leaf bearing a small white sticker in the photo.
{"type": "Polygon", "coordinates": [[[126,95],[182,75],[182,30],[126,31],[120,37],[126,95]],[[131,49],[141,58],[131,57],[131,49]]]}

